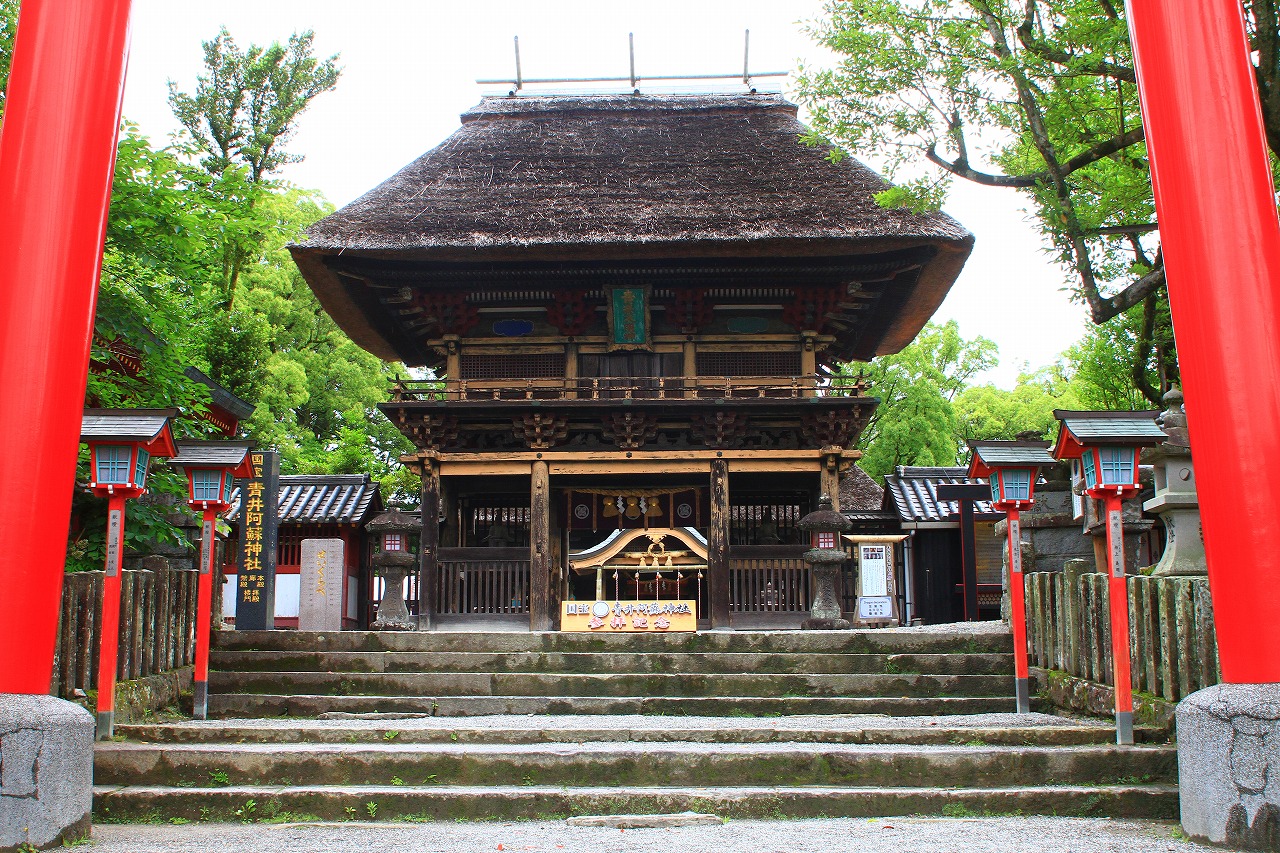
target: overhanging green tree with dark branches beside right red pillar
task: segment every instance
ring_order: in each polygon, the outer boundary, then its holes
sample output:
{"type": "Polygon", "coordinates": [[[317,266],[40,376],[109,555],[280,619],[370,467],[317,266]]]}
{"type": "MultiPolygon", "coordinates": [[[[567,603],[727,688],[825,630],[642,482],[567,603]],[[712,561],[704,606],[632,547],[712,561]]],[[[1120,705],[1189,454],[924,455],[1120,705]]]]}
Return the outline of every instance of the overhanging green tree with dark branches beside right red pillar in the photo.
{"type": "MultiPolygon", "coordinates": [[[[1245,4],[1275,150],[1277,9],[1245,4]]],[[[1178,362],[1123,5],[832,0],[810,33],[840,61],[800,77],[809,141],[881,159],[891,175],[922,159],[936,167],[883,193],[886,205],[936,207],[956,177],[1023,192],[1092,320],[1138,310],[1135,346],[1112,357],[1158,402],[1178,362]]]]}

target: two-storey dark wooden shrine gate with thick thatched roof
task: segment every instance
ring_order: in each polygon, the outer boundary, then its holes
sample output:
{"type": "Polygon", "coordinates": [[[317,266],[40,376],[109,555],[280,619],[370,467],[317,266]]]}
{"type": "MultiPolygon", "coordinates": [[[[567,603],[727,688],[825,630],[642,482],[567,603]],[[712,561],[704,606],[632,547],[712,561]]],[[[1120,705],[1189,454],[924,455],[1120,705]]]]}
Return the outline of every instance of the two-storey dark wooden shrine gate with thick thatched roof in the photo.
{"type": "Polygon", "coordinates": [[[554,630],[684,599],[797,626],[796,521],[973,237],[799,140],[777,95],[489,97],[291,246],[356,343],[431,371],[381,406],[422,475],[420,628],[554,630]]]}

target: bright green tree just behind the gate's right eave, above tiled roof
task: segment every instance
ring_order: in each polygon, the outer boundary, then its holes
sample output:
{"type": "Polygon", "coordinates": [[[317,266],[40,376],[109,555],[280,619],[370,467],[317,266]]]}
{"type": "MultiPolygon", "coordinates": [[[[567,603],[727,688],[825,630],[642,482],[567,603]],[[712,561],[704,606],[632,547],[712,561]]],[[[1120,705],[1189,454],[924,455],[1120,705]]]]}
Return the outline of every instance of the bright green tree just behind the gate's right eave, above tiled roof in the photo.
{"type": "Polygon", "coordinates": [[[881,400],[859,442],[861,469],[879,478],[899,465],[955,465],[960,428],[952,401],[995,365],[996,345],[965,341],[955,320],[925,325],[901,352],[845,365],[846,375],[860,373],[868,393],[881,400]]]}

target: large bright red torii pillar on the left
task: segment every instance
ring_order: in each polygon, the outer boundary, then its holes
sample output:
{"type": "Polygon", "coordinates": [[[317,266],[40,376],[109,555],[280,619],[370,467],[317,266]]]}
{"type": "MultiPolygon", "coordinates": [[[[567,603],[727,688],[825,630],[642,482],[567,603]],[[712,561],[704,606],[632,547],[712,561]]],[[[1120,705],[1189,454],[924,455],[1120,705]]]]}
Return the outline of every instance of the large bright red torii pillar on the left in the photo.
{"type": "Polygon", "coordinates": [[[49,693],[129,0],[23,0],[0,137],[0,693],[49,693]]]}

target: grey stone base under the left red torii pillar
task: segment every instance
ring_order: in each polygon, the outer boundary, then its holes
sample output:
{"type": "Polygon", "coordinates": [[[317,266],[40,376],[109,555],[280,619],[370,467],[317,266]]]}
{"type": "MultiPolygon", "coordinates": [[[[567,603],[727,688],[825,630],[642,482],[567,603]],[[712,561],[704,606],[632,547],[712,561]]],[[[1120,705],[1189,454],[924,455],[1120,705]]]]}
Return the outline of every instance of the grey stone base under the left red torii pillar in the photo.
{"type": "Polygon", "coordinates": [[[0,850],[88,835],[93,717],[51,695],[0,693],[0,850]]]}

